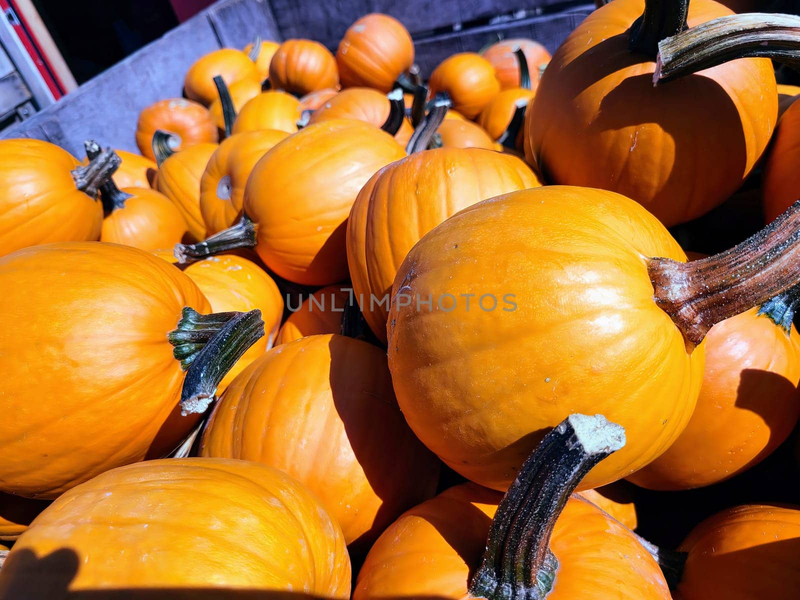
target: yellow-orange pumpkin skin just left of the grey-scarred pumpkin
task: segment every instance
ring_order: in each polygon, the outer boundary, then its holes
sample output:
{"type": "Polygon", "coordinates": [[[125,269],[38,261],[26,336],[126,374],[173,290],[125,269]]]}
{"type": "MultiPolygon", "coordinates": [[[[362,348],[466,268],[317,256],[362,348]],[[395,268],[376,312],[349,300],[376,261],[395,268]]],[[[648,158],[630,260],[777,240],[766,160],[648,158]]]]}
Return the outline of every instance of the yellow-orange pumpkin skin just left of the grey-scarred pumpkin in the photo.
{"type": "Polygon", "coordinates": [[[218,147],[217,144],[190,146],[167,158],[158,169],[156,190],[178,206],[189,226],[189,238],[195,242],[206,238],[206,223],[200,211],[200,180],[218,147]]]}

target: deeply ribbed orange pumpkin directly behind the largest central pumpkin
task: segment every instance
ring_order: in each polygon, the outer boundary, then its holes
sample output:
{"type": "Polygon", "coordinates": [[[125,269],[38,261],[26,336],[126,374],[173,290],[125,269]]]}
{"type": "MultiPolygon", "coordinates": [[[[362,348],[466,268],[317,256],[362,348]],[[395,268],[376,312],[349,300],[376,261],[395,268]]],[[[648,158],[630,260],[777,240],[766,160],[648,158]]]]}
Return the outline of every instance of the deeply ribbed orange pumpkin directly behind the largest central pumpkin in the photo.
{"type": "Polygon", "coordinates": [[[350,279],[374,334],[386,342],[389,306],[380,302],[419,238],[475,202],[540,185],[518,158],[474,148],[417,152],[374,174],[347,223],[350,279]]]}

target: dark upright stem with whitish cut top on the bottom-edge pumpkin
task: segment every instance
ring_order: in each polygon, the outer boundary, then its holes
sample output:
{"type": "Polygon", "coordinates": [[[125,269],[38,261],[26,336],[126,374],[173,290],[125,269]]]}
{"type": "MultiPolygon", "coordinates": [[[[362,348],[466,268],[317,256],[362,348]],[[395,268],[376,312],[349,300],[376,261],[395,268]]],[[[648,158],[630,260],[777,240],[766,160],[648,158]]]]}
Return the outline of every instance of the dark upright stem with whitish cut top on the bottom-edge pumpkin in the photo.
{"type": "Polygon", "coordinates": [[[572,414],[526,459],[503,496],[470,595],[487,600],[546,598],[558,561],[550,535],[582,478],[625,446],[625,430],[602,414],[572,414]]]}

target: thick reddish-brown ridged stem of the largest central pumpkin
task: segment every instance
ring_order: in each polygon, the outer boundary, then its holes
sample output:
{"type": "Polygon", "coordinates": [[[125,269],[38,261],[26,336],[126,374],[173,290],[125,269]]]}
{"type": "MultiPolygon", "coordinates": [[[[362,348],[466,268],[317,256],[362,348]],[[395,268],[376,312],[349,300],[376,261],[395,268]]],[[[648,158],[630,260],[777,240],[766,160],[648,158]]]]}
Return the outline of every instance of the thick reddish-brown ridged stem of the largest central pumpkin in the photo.
{"type": "Polygon", "coordinates": [[[692,262],[651,258],[654,299],[693,348],[716,323],[800,283],[800,200],[744,242],[692,262]]]}

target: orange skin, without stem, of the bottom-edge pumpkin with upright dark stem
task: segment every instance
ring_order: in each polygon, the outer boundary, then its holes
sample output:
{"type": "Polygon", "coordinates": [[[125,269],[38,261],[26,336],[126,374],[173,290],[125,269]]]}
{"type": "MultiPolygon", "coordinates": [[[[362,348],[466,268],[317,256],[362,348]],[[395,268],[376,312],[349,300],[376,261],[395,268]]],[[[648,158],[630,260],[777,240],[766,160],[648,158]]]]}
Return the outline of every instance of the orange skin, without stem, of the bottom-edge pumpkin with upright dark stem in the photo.
{"type": "MultiPolygon", "coordinates": [[[[472,598],[467,582],[501,498],[465,483],[408,510],[370,550],[353,600],[472,598]]],[[[550,549],[558,571],[547,600],[670,600],[658,564],[634,534],[577,495],[555,523],[550,549]]]]}

